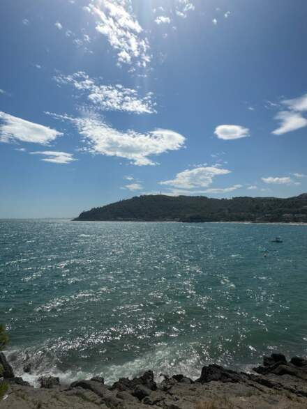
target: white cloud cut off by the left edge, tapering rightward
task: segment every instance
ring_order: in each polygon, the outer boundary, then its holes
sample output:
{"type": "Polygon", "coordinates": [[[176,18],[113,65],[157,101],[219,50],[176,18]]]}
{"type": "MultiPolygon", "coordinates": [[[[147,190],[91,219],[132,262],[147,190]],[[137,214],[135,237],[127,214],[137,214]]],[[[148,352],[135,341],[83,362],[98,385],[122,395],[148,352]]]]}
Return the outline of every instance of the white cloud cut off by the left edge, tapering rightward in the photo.
{"type": "Polygon", "coordinates": [[[31,142],[32,144],[47,145],[63,134],[38,123],[26,121],[22,118],[0,111],[0,141],[1,142],[31,142]]]}

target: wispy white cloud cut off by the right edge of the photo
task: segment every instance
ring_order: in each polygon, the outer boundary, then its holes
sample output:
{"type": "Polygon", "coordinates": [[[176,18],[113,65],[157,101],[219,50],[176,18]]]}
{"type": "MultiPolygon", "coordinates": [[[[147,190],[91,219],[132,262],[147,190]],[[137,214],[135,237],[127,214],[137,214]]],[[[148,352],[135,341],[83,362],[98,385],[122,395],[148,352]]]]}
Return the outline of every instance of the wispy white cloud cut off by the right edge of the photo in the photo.
{"type": "Polygon", "coordinates": [[[275,119],[280,122],[280,126],[272,132],[273,134],[282,135],[307,126],[307,119],[302,114],[307,111],[307,94],[280,103],[287,111],[283,110],[276,114],[275,119]]]}

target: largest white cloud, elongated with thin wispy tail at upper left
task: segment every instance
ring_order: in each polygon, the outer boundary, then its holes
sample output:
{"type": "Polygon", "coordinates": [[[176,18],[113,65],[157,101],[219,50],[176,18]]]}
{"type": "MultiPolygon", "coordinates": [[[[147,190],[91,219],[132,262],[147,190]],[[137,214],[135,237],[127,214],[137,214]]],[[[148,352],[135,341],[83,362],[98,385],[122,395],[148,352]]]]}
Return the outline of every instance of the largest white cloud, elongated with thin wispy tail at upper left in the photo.
{"type": "Polygon", "coordinates": [[[146,134],[133,130],[121,132],[111,128],[98,117],[72,118],[57,114],[51,115],[54,118],[74,123],[84,141],[89,144],[87,151],[124,157],[138,166],[154,165],[155,162],[149,159],[149,156],[177,151],[184,147],[186,140],[181,134],[172,130],[158,129],[146,134]]]}

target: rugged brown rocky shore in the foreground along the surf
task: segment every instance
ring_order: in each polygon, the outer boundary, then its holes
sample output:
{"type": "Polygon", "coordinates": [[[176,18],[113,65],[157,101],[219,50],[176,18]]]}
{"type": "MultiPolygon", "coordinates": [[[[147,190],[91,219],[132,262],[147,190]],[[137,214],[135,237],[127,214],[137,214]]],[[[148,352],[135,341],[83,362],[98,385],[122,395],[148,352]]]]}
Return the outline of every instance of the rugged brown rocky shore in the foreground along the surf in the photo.
{"type": "MultiPolygon", "coordinates": [[[[40,378],[35,389],[13,369],[0,353],[3,378],[8,386],[1,409],[32,408],[169,408],[169,409],[295,409],[307,408],[307,360],[274,353],[264,357],[253,373],[236,372],[222,366],[204,366],[200,378],[184,374],[160,375],[152,371],[132,380],[121,378],[105,385],[102,377],[60,385],[59,378],[40,378]]],[[[31,371],[31,368],[27,370],[31,371]]],[[[1,385],[1,384],[0,384],[1,385]]]]}

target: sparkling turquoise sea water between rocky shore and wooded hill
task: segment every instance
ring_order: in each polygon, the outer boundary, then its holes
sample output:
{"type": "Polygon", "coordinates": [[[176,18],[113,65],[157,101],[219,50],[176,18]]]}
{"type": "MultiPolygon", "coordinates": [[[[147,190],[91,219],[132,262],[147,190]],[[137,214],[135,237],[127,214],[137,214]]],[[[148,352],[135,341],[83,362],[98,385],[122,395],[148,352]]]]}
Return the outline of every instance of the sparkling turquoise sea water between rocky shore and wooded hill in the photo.
{"type": "Polygon", "coordinates": [[[33,382],[195,377],[211,362],[307,353],[307,226],[2,220],[0,231],[0,321],[33,382]]]}

